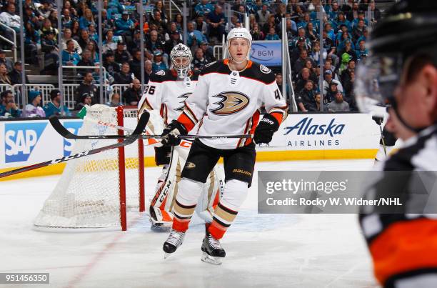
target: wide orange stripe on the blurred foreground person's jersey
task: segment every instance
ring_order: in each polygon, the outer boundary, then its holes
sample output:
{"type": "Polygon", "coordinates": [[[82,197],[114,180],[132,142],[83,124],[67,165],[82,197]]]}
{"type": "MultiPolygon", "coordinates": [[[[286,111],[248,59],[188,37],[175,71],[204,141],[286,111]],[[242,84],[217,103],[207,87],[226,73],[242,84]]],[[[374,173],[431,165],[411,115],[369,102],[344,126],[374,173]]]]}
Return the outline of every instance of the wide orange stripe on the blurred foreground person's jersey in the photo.
{"type": "Polygon", "coordinates": [[[414,219],[391,224],[370,244],[375,277],[389,277],[437,267],[437,220],[414,219]]]}

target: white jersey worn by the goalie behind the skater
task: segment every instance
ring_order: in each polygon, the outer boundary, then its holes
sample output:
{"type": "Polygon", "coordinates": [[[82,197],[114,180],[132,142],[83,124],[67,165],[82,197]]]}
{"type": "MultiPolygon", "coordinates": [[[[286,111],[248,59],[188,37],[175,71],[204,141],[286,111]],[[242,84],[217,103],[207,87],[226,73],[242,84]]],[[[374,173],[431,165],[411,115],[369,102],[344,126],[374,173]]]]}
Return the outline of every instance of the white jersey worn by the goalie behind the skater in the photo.
{"type": "MultiPolygon", "coordinates": [[[[159,111],[164,125],[176,120],[184,110],[185,100],[193,93],[199,74],[190,72],[184,80],[177,77],[174,70],[161,70],[151,74],[149,83],[144,88],[143,96],[139,101],[140,113],[144,109],[159,111]]],[[[153,125],[153,119],[149,120],[153,125]]],[[[149,125],[151,126],[151,125],[149,125]]],[[[152,131],[155,129],[150,127],[152,131]]],[[[160,131],[154,131],[159,134],[160,131]]]]}

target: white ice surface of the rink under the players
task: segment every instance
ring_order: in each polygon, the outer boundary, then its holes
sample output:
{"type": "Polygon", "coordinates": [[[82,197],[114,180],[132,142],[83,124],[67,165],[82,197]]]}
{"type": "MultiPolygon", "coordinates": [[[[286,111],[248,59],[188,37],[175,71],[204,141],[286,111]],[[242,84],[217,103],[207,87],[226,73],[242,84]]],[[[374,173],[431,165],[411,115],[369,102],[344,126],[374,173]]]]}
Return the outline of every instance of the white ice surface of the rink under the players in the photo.
{"type": "MultiPolygon", "coordinates": [[[[366,170],[372,165],[370,160],[261,162],[256,169],[366,170]]],[[[147,199],[159,174],[158,168],[146,169],[147,199]]],[[[201,262],[199,218],[193,219],[184,244],[164,260],[167,234],[151,232],[145,214],[129,214],[127,232],[39,232],[33,219],[59,177],[0,182],[0,272],[49,272],[50,287],[377,286],[356,215],[257,214],[254,176],[248,199],[222,240],[226,259],[219,267],[201,262]]]]}

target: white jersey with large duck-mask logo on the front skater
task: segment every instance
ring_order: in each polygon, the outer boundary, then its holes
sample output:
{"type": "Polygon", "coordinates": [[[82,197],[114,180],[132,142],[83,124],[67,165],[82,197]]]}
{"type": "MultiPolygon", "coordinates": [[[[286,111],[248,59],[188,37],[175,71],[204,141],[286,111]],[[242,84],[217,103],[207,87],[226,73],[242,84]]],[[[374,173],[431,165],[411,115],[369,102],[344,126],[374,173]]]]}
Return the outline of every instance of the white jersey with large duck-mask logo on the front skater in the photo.
{"type": "MultiPolygon", "coordinates": [[[[200,121],[199,135],[253,134],[262,104],[279,124],[286,118],[286,101],[270,69],[248,61],[243,71],[231,71],[228,60],[216,61],[201,71],[196,89],[186,99],[178,121],[188,131],[200,121]]],[[[217,149],[235,149],[250,144],[252,139],[201,141],[217,149]]]]}

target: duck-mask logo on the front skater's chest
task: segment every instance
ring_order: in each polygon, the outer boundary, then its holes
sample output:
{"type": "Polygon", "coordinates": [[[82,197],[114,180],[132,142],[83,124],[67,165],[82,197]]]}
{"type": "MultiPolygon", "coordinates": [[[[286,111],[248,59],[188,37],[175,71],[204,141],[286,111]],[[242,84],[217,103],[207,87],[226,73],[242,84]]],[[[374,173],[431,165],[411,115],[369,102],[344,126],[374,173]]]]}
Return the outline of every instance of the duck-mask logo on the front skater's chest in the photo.
{"type": "Polygon", "coordinates": [[[238,91],[226,91],[213,96],[221,100],[214,103],[218,107],[210,111],[216,115],[231,115],[243,110],[249,103],[248,96],[238,91]]]}

